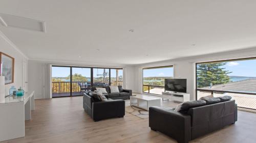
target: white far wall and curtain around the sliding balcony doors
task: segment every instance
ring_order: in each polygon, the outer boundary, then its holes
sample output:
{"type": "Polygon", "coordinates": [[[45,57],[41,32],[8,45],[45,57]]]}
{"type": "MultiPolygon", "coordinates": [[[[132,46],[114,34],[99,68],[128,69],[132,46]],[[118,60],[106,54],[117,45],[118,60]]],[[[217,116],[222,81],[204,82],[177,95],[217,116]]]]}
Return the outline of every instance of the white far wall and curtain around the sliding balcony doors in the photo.
{"type": "MultiPolygon", "coordinates": [[[[29,60],[29,91],[35,91],[35,99],[46,98],[47,89],[47,68],[49,65],[61,65],[61,66],[83,66],[83,67],[105,67],[105,68],[123,68],[123,83],[126,88],[126,70],[130,71],[130,68],[126,69],[125,65],[116,64],[101,64],[101,63],[75,63],[75,62],[59,62],[59,61],[34,61],[29,60]]],[[[129,75],[130,76],[130,75],[129,75]]],[[[131,82],[131,81],[129,81],[131,82]]]]}

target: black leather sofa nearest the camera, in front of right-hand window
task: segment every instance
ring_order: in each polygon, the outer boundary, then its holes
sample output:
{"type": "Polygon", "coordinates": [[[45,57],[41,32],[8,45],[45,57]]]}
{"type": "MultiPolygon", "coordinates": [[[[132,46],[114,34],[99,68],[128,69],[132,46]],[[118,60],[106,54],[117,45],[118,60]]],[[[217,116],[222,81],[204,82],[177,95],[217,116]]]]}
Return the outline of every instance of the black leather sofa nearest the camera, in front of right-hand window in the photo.
{"type": "Polygon", "coordinates": [[[168,107],[150,107],[149,126],[179,143],[187,143],[237,121],[234,100],[189,108],[187,113],[168,107]]]}

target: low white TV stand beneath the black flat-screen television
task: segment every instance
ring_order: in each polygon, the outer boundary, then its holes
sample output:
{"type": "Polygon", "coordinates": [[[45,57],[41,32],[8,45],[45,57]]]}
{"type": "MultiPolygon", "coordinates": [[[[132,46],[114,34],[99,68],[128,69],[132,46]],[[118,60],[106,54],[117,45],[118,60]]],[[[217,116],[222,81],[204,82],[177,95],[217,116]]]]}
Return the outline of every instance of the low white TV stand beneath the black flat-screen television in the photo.
{"type": "Polygon", "coordinates": [[[173,100],[176,102],[186,102],[190,100],[189,93],[176,93],[176,92],[162,92],[162,100],[173,100]]]}

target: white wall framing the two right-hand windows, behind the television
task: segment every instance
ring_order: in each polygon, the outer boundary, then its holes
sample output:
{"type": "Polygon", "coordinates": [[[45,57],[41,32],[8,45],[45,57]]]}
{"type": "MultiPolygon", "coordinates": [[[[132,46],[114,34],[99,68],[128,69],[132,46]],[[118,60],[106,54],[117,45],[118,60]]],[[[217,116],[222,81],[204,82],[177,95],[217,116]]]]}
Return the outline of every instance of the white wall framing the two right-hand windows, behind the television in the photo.
{"type": "Polygon", "coordinates": [[[174,65],[174,78],[186,78],[187,79],[187,93],[190,93],[190,99],[194,100],[196,96],[196,63],[209,62],[218,60],[229,60],[239,58],[256,57],[256,48],[250,48],[245,50],[237,50],[223,53],[207,54],[201,56],[194,56],[184,59],[168,60],[155,63],[147,63],[137,65],[135,67],[135,80],[128,80],[127,84],[134,84],[135,91],[142,92],[142,68],[155,67],[155,66],[168,66],[174,65]],[[132,83],[130,83],[132,82],[132,83]]]}

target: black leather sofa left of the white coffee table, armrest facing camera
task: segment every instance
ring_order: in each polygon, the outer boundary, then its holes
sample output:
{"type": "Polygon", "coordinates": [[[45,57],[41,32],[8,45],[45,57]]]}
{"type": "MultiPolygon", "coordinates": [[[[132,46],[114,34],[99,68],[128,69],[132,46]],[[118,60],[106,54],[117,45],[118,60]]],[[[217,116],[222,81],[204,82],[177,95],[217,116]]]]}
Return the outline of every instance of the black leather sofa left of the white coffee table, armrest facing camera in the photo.
{"type": "Polygon", "coordinates": [[[92,93],[86,92],[83,95],[83,109],[95,121],[109,118],[122,118],[125,114],[124,100],[97,101],[92,93]]]}

